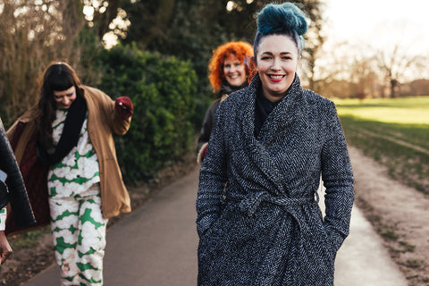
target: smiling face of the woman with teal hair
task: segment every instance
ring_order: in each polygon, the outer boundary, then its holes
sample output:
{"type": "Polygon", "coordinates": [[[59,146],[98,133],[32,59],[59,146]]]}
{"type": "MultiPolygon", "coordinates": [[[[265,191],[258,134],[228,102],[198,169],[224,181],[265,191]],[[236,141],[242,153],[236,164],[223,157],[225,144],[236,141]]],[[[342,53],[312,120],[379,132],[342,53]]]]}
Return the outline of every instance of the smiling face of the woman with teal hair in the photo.
{"type": "Polygon", "coordinates": [[[295,77],[298,62],[298,48],[288,36],[262,38],[257,47],[257,71],[266,98],[277,101],[285,96],[295,77]]]}

